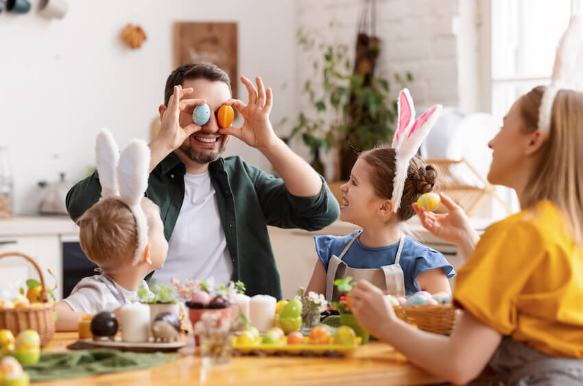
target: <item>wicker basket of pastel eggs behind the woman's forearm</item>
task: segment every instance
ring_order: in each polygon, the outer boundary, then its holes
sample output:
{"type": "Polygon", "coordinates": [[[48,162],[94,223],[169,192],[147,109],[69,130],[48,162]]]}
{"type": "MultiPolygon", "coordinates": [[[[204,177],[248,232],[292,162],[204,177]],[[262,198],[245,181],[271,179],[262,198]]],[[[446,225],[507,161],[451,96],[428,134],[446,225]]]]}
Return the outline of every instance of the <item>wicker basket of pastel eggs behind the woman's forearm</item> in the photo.
{"type": "Polygon", "coordinates": [[[440,305],[401,305],[395,307],[399,318],[416,324],[420,330],[450,335],[459,318],[459,311],[451,303],[440,305]]]}

